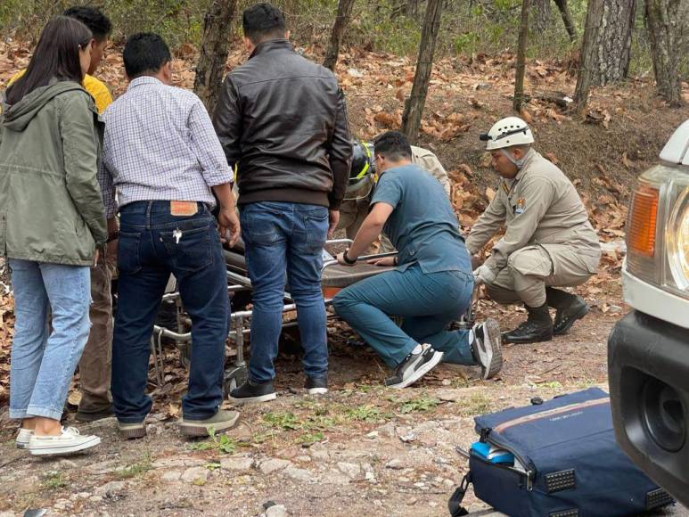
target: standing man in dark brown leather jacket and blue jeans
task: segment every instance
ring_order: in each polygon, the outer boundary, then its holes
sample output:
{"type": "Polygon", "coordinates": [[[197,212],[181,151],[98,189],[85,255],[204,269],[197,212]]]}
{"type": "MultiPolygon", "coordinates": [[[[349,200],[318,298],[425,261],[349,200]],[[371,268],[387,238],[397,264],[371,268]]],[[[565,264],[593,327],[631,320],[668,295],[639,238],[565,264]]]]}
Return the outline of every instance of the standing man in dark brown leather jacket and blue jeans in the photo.
{"type": "Polygon", "coordinates": [[[337,78],[294,52],[283,12],[256,4],[242,26],[249,61],[227,75],[213,123],[237,170],[254,290],[249,380],[231,397],[258,402],[275,398],[285,280],[297,303],[306,388],[327,391],[321,252],[340,218],[351,144],[337,78]]]}

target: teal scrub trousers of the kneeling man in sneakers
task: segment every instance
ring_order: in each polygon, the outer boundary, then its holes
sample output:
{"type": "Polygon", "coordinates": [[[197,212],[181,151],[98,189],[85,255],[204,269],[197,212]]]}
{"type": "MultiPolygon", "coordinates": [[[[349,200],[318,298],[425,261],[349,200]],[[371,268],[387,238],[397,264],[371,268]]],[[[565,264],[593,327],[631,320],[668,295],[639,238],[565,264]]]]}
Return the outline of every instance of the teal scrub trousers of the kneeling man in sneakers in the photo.
{"type": "Polygon", "coordinates": [[[459,271],[423,273],[414,265],[366,278],[340,291],[332,306],[390,368],[418,343],[445,352],[443,360],[475,365],[469,331],[446,331],[469,307],[472,275],[459,271]],[[403,316],[398,327],[390,316],[403,316]]]}

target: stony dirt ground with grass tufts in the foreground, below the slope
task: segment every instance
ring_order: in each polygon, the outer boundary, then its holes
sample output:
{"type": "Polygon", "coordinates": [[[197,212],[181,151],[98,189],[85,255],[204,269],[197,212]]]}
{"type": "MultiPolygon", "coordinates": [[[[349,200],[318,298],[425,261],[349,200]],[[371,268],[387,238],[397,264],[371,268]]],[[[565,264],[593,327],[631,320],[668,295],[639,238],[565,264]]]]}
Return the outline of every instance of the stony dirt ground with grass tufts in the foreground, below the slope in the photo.
{"type": "MultiPolygon", "coordinates": [[[[447,499],[466,462],[455,447],[476,439],[472,417],[533,397],[605,388],[606,339],[626,308],[619,284],[566,336],[534,345],[506,345],[504,369],[491,381],[477,371],[441,365],[406,390],[386,390],[383,365],[369,349],[348,344],[342,324],[330,328],[331,390],[311,398],[299,357],[278,360],[276,401],[243,406],[227,438],[183,439],[179,400],[159,392],[148,436],[123,441],[114,419],[80,424],[103,439],[91,454],[37,459],[13,446],[6,408],[0,415],[0,515],[28,508],[79,515],[447,515],[447,499]],[[619,305],[615,305],[615,302],[619,305]],[[602,308],[608,308],[603,313],[602,308]]],[[[479,317],[504,328],[518,311],[480,302],[479,317]]],[[[178,367],[168,349],[166,372],[178,367]]],[[[168,377],[169,378],[169,377],[168,377]]],[[[70,419],[72,416],[70,416],[70,419]]],[[[473,511],[486,509],[470,492],[473,511]]]]}

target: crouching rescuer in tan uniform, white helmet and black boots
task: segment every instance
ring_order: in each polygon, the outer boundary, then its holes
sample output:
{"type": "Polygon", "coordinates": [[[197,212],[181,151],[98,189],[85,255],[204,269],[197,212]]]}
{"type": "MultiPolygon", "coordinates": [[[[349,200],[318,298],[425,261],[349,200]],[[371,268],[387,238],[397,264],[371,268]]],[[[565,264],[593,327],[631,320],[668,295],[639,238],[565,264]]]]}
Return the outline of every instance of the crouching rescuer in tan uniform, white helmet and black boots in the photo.
{"type": "Polygon", "coordinates": [[[466,247],[475,255],[501,226],[505,234],[474,277],[493,300],[521,301],[529,313],[526,322],[504,333],[504,341],[548,341],[589,310],[581,297],[554,287],[579,285],[595,274],[598,236],[570,179],[531,149],[534,139],[526,122],[502,119],[481,140],[502,177],[466,247]],[[554,324],[548,307],[557,309],[554,324]]]}

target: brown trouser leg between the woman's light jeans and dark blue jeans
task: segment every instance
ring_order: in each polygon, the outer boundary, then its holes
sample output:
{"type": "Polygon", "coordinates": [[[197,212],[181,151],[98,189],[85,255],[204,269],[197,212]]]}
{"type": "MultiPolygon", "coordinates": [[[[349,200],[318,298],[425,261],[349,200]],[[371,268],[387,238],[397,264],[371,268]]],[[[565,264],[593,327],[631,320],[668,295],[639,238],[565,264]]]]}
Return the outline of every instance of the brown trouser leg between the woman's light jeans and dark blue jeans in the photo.
{"type": "Polygon", "coordinates": [[[80,413],[98,413],[111,406],[112,259],[91,269],[91,332],[79,361],[80,413]]]}

